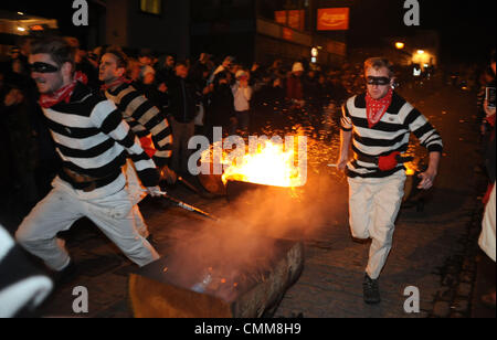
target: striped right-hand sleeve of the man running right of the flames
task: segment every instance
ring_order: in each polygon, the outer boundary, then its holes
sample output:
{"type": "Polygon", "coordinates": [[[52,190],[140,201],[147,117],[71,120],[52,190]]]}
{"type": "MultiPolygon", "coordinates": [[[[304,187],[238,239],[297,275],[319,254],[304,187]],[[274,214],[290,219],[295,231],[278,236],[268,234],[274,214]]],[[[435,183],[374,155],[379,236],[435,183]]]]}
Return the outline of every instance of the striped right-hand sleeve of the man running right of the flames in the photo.
{"type": "Polygon", "coordinates": [[[430,152],[443,152],[441,135],[417,109],[413,108],[409,113],[405,125],[430,152]]]}

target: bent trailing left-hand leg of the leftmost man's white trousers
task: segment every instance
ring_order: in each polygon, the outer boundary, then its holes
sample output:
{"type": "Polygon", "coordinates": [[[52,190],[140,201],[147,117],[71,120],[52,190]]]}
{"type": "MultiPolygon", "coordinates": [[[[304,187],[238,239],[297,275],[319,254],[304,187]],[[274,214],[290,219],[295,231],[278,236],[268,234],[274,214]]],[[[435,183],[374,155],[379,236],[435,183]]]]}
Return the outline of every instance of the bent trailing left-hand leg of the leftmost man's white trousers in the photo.
{"type": "Polygon", "coordinates": [[[15,233],[15,240],[29,253],[42,258],[53,270],[64,269],[71,258],[56,234],[83,217],[77,199],[61,189],[50,194],[31,211],[15,233]]]}

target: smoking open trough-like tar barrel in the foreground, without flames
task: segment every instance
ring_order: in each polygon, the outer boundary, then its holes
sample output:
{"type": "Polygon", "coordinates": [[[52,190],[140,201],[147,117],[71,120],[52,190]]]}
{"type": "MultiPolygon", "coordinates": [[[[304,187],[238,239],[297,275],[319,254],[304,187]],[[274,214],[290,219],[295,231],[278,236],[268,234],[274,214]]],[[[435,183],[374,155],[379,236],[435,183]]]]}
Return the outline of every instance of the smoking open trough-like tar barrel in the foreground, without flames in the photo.
{"type": "MultiPolygon", "coordinates": [[[[265,240],[264,242],[267,242],[265,240]]],[[[168,258],[130,275],[129,296],[137,318],[258,318],[275,310],[304,267],[302,243],[272,240],[274,251],[258,270],[208,267],[193,275],[168,258]]]]}

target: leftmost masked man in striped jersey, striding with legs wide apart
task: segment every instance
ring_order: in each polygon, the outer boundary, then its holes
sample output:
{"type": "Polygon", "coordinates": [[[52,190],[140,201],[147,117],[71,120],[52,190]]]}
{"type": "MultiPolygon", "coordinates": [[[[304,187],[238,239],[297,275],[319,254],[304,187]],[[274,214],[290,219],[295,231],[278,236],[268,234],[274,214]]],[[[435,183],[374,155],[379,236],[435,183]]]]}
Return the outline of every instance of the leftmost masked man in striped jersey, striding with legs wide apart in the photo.
{"type": "Polygon", "coordinates": [[[18,242],[63,277],[74,272],[74,265],[56,234],[86,216],[137,265],[158,259],[136,230],[123,172],[129,155],[147,191],[158,195],[154,161],[114,103],[77,81],[74,52],[63,40],[33,44],[30,66],[63,168],[50,194],[21,223],[18,242]]]}

